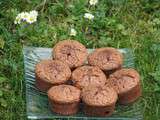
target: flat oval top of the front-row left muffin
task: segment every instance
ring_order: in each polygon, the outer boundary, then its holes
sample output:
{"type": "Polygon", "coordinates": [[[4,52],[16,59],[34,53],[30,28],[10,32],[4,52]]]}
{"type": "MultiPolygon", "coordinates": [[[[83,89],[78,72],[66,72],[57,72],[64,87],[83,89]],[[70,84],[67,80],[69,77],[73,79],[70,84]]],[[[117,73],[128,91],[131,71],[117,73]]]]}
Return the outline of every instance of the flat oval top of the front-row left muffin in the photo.
{"type": "Polygon", "coordinates": [[[80,101],[80,90],[71,85],[58,85],[49,89],[48,97],[58,103],[80,101]]]}

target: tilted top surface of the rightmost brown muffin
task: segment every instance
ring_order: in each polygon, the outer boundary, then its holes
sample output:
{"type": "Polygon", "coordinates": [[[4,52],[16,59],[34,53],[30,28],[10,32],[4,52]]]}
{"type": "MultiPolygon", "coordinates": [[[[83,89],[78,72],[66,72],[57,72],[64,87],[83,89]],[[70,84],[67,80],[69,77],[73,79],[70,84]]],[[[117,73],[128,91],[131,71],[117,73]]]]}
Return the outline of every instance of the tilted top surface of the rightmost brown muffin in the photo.
{"type": "Polygon", "coordinates": [[[140,76],[134,69],[121,69],[111,74],[107,82],[117,91],[118,94],[121,94],[131,90],[139,84],[140,76]]]}

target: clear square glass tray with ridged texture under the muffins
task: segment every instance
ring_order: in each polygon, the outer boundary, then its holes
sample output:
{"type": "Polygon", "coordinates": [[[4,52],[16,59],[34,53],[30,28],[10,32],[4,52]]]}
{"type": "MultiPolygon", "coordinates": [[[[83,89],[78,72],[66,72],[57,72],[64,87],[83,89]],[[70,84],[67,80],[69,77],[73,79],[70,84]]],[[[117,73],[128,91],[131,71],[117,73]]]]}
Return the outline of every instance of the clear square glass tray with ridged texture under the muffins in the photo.
{"type": "MultiPolygon", "coordinates": [[[[42,59],[51,58],[51,48],[36,48],[27,47],[23,48],[24,54],[24,67],[25,67],[25,85],[26,85],[26,109],[28,119],[105,119],[105,120],[142,120],[142,99],[131,105],[122,106],[116,105],[116,109],[110,117],[87,117],[83,114],[82,110],[73,116],[61,116],[52,113],[48,106],[48,99],[45,93],[39,92],[35,87],[35,74],[34,68],[37,62],[42,59]]],[[[88,49],[92,52],[93,49],[88,49]]],[[[134,55],[130,49],[120,49],[124,54],[124,67],[134,68],[134,55]]]]}

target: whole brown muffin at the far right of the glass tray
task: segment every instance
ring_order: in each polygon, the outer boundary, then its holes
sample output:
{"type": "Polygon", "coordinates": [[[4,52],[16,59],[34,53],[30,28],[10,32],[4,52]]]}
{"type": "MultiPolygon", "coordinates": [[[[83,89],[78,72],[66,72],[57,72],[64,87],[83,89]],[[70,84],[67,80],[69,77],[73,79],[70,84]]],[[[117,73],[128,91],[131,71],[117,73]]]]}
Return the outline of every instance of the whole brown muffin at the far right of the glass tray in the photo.
{"type": "Polygon", "coordinates": [[[141,96],[140,76],[134,69],[118,70],[108,82],[117,91],[120,104],[132,103],[141,96]]]}

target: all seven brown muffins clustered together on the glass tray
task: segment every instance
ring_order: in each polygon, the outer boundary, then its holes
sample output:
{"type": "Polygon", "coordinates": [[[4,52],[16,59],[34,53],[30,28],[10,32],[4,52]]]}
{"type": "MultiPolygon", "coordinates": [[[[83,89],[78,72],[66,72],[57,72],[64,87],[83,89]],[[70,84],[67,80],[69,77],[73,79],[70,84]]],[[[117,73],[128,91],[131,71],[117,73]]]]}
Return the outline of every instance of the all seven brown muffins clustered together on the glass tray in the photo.
{"type": "Polygon", "coordinates": [[[115,48],[88,54],[75,40],[60,41],[53,59],[36,65],[36,86],[47,92],[55,113],[73,115],[81,105],[87,116],[110,116],[116,103],[127,105],[141,96],[139,73],[122,64],[123,55],[115,48]]]}

